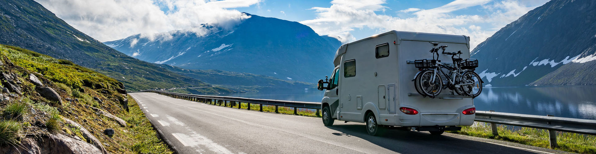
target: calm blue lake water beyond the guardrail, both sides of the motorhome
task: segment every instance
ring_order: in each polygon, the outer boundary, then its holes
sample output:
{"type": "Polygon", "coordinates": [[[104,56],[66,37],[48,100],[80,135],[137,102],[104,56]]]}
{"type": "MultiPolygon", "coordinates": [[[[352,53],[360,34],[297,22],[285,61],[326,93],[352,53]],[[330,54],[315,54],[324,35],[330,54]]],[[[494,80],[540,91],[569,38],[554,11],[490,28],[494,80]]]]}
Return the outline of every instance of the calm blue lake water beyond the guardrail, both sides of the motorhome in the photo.
{"type": "MultiPolygon", "coordinates": [[[[476,110],[547,115],[596,120],[596,86],[484,88],[474,98],[476,110]]],[[[223,94],[234,97],[320,102],[323,92],[309,91],[247,92],[223,94]]]]}

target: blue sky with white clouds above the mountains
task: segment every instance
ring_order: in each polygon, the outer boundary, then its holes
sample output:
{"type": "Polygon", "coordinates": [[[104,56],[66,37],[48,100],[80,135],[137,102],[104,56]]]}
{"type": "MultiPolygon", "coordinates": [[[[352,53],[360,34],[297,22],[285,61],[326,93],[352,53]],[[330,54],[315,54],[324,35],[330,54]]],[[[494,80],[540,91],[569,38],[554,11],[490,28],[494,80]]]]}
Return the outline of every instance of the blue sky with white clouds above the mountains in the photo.
{"type": "Polygon", "coordinates": [[[35,0],[99,41],[231,28],[249,14],[297,21],[343,43],[390,30],[470,36],[476,47],[548,0],[35,0]]]}

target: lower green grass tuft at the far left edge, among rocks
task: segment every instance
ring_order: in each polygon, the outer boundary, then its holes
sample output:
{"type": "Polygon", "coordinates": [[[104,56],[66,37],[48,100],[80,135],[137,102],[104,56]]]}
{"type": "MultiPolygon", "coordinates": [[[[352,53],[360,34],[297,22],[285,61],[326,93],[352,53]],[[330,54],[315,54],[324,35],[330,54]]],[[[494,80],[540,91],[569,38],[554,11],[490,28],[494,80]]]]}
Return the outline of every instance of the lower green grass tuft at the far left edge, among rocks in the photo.
{"type": "Polygon", "coordinates": [[[13,120],[0,120],[0,145],[17,145],[20,142],[21,125],[13,120]]]}

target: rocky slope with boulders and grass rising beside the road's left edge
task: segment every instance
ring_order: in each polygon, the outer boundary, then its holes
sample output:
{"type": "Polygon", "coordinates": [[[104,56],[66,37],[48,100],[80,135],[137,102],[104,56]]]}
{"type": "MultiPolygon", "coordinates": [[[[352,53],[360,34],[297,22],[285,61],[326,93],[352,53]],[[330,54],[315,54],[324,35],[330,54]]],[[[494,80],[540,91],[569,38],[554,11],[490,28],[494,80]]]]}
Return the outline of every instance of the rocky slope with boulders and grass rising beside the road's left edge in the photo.
{"type": "Polygon", "coordinates": [[[172,153],[122,82],[0,44],[0,153],[172,153]]]}

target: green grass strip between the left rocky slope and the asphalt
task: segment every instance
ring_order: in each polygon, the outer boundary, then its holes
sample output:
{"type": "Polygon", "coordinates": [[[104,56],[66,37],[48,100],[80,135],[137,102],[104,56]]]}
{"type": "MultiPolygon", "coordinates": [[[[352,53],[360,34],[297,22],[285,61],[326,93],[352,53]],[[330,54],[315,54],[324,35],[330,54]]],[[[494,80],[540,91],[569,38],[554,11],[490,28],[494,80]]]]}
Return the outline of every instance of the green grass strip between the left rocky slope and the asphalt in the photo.
{"type": "Polygon", "coordinates": [[[123,120],[130,125],[125,136],[134,140],[121,143],[129,147],[135,153],[173,153],[166,143],[159,139],[157,131],[153,129],[149,119],[141,111],[135,100],[128,97],[129,113],[123,116],[123,120]]]}

